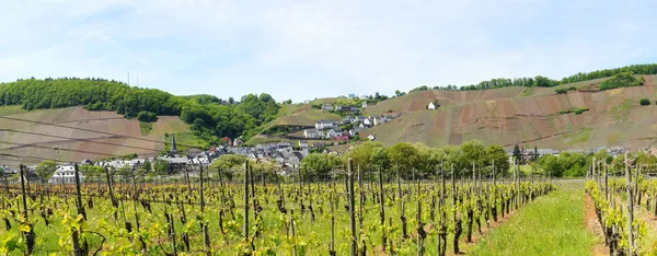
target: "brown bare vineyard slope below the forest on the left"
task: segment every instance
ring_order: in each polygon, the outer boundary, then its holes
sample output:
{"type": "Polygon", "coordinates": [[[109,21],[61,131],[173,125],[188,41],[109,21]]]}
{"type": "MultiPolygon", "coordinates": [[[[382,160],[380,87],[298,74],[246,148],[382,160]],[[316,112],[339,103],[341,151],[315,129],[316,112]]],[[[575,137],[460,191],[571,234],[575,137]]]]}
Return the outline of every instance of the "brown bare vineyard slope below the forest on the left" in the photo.
{"type": "MultiPolygon", "coordinates": [[[[126,119],[113,112],[90,112],[82,107],[26,112],[18,106],[2,106],[0,123],[2,124],[0,129],[12,130],[0,131],[0,153],[33,156],[21,159],[20,162],[25,164],[41,162],[37,158],[79,162],[84,159],[96,160],[128,153],[152,156],[165,149],[165,144],[161,142],[168,141],[164,135],[172,132],[178,135],[177,143],[194,143],[184,139],[188,137],[186,133],[189,130],[177,116],[159,116],[148,135],[142,135],[139,121],[136,119],[126,119]]],[[[13,156],[0,155],[0,165],[15,166],[19,164],[18,160],[13,156]]]]}

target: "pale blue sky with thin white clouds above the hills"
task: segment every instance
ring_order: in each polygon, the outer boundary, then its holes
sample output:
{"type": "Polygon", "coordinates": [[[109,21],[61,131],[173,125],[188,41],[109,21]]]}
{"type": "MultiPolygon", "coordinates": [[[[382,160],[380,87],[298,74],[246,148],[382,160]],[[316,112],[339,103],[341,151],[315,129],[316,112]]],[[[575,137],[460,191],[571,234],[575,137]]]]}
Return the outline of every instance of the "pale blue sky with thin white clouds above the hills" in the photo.
{"type": "Polygon", "coordinates": [[[654,1],[0,2],[0,81],[295,102],[657,62],[654,1]]]}

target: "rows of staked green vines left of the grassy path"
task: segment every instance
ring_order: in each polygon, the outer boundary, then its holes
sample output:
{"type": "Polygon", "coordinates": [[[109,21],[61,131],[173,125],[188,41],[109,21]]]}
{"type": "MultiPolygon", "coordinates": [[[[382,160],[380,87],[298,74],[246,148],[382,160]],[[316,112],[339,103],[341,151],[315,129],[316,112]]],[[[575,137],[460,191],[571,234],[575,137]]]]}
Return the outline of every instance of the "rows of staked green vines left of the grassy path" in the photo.
{"type": "MultiPolygon", "coordinates": [[[[495,172],[494,168],[493,173],[495,172]]],[[[4,184],[2,254],[446,255],[556,188],[548,177],[360,173],[270,181],[243,170],[149,182],[106,171],[95,183],[4,184]]]]}

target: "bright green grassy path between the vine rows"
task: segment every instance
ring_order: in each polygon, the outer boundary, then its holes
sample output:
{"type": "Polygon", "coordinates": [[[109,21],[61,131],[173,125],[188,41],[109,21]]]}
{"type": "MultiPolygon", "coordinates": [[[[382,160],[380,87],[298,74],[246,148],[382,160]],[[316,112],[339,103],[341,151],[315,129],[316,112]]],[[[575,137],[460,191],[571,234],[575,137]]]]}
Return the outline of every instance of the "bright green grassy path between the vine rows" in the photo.
{"type": "Polygon", "coordinates": [[[590,255],[596,237],[585,229],[584,188],[560,189],[522,207],[470,255],[590,255]]]}

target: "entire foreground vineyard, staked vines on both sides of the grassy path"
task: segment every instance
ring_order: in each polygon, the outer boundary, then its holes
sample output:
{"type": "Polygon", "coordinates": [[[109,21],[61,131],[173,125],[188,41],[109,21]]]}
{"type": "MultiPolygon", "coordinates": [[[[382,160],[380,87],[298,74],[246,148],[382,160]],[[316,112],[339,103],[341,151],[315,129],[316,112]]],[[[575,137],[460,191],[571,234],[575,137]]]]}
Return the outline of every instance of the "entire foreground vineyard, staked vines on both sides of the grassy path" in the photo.
{"type": "Polygon", "coordinates": [[[548,244],[542,235],[561,236],[551,245],[558,247],[584,240],[567,248],[575,251],[564,252],[586,255],[592,243],[586,235],[591,234],[573,233],[579,222],[567,220],[581,218],[583,212],[566,213],[581,208],[583,201],[555,203],[586,191],[601,226],[604,254],[654,255],[657,181],[649,176],[657,165],[629,159],[619,168],[592,161],[585,188],[581,179],[555,181],[521,172],[519,165],[507,172],[473,165],[460,173],[453,165],[440,164],[427,175],[396,167],[360,172],[350,159],[320,179],[299,172],[270,175],[250,161],[238,170],[183,172],[176,179],[110,168],[74,184],[28,183],[24,175],[10,182],[4,176],[0,254],[554,253],[509,243],[509,235],[521,241],[540,232],[533,243],[548,244]],[[531,212],[538,217],[532,219],[531,212]],[[549,234],[551,230],[556,231],[549,234]],[[476,247],[477,243],[482,245],[476,247]]]}

